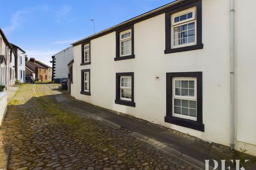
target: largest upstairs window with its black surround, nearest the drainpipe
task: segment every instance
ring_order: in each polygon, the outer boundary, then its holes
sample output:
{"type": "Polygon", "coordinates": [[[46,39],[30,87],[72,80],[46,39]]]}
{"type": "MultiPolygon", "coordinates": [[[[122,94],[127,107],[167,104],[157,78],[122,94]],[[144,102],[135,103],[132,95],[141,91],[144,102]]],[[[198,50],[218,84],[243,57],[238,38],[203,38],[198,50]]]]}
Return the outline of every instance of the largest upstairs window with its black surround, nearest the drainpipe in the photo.
{"type": "Polygon", "coordinates": [[[203,48],[202,0],[177,4],[165,13],[165,54],[203,48]]]}

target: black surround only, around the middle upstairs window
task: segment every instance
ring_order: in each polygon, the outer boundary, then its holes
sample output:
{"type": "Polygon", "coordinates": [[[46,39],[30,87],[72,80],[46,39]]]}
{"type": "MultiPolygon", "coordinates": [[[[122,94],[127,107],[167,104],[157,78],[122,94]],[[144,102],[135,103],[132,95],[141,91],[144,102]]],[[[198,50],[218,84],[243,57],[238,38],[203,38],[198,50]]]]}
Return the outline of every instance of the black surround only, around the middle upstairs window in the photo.
{"type": "Polygon", "coordinates": [[[115,61],[119,61],[119,60],[127,60],[127,59],[131,59],[131,58],[135,58],[134,55],[134,25],[129,25],[127,27],[118,29],[116,31],[116,57],[114,58],[115,61]],[[125,30],[132,30],[132,54],[128,55],[128,56],[120,56],[120,32],[123,32],[125,30]]]}

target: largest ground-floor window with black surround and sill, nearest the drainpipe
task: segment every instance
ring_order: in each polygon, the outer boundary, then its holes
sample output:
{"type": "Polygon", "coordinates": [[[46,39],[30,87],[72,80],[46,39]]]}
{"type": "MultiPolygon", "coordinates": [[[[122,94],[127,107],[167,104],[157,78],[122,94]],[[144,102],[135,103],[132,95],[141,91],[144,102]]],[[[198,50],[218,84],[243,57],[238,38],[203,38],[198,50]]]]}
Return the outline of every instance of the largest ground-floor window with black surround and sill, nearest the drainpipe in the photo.
{"type": "Polygon", "coordinates": [[[166,73],[165,122],[204,131],[202,72],[166,73]]]}

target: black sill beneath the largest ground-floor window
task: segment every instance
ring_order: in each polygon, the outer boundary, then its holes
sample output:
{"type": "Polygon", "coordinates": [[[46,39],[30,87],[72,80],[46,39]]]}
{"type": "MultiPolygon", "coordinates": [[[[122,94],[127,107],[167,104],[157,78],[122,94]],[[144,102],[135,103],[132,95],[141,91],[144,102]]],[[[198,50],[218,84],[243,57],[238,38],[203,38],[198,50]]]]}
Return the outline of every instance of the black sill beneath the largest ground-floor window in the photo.
{"type": "Polygon", "coordinates": [[[164,121],[167,123],[183,126],[186,128],[194,129],[197,131],[204,132],[204,124],[198,123],[196,121],[187,120],[184,118],[174,117],[174,116],[165,116],[164,121]]]}

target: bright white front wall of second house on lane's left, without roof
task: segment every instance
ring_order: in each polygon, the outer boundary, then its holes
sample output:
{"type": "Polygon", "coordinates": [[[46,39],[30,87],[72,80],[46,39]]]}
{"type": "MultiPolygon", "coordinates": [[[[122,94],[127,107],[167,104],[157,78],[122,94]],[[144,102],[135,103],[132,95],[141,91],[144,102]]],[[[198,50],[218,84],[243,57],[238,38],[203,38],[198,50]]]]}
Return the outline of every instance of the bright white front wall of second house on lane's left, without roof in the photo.
{"type": "Polygon", "coordinates": [[[25,53],[23,53],[19,48],[17,48],[17,56],[18,56],[18,73],[17,74],[17,79],[21,82],[24,83],[24,77],[26,74],[26,66],[25,66],[25,53]],[[22,58],[22,62],[20,61],[20,58],[22,58]],[[21,73],[22,71],[22,77],[21,73]]]}

